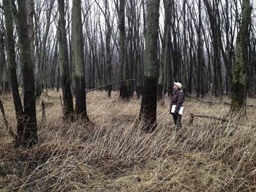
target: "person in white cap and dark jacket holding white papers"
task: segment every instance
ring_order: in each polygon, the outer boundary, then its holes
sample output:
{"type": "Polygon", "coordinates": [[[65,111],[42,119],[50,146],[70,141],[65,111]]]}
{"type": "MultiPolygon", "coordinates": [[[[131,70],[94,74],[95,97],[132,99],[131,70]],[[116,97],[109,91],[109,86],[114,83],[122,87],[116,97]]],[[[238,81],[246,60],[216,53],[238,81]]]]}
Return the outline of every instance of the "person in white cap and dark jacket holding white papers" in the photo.
{"type": "Polygon", "coordinates": [[[176,128],[180,129],[182,126],[182,112],[183,112],[183,102],[185,95],[182,91],[182,84],[174,82],[172,87],[172,99],[170,103],[170,114],[174,120],[176,128]]]}

